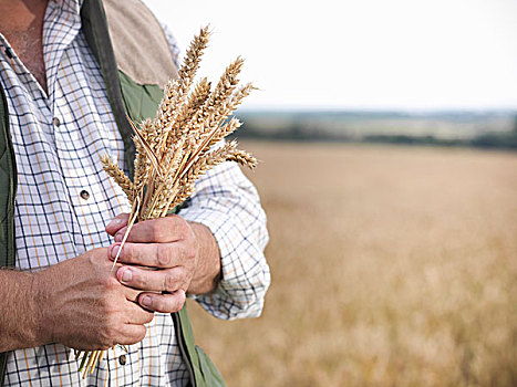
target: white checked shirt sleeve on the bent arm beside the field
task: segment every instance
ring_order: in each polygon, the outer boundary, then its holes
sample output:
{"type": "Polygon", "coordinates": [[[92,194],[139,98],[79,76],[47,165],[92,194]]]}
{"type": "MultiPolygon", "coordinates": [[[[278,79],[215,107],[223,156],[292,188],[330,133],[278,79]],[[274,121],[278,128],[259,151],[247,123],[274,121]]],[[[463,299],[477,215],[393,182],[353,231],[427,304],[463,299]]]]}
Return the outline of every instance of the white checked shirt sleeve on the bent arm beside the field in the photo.
{"type": "Polygon", "coordinates": [[[223,279],[214,293],[194,296],[197,302],[218,318],[260,315],[270,284],[266,213],[237,164],[219,165],[199,179],[179,215],[207,226],[219,247],[223,279]]]}

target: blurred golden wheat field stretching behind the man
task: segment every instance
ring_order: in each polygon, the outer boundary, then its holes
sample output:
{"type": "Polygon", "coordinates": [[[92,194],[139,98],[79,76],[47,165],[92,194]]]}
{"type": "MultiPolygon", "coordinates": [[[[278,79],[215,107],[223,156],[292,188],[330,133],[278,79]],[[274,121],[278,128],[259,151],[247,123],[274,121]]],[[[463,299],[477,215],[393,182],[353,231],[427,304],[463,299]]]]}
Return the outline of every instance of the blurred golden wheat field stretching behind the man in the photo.
{"type": "Polygon", "coordinates": [[[190,303],[230,387],[517,386],[517,154],[246,142],[260,318],[190,303]]]}

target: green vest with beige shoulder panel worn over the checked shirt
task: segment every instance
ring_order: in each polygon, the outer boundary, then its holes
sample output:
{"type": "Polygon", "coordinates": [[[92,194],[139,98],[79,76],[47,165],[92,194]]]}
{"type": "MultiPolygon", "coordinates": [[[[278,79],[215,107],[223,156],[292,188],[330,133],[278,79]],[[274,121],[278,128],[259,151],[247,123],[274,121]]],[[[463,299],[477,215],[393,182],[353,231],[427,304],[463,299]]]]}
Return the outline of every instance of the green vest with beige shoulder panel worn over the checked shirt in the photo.
{"type": "MultiPolygon", "coordinates": [[[[110,20],[110,31],[114,39],[120,39],[123,42],[124,49],[127,50],[126,42],[127,36],[130,36],[128,34],[139,34],[139,40],[147,43],[158,42],[161,38],[157,34],[163,34],[159,24],[152,17],[152,13],[142,7],[142,3],[136,0],[108,0],[106,1],[106,10],[110,12],[105,12],[102,0],[84,0],[81,10],[82,30],[101,64],[107,96],[124,140],[125,157],[131,172],[133,171],[135,148],[131,139],[132,129],[125,114],[127,113],[135,122],[154,116],[162,100],[163,91],[157,84],[144,84],[145,80],[142,82],[142,79],[145,79],[148,72],[146,69],[135,67],[135,63],[138,63],[137,61],[133,61],[133,63],[130,63],[130,61],[127,62],[130,64],[126,64],[125,59],[123,59],[123,66],[117,66],[115,51],[120,50],[120,48],[116,46],[115,42],[112,44],[106,13],[108,13],[108,20],[113,19],[113,22],[110,20]],[[135,28],[135,22],[145,27],[146,31],[135,28]],[[114,29],[115,27],[123,27],[126,31],[112,31],[112,24],[114,29]],[[122,34],[125,33],[125,36],[118,36],[120,32],[122,34]],[[146,32],[151,32],[152,34],[146,36],[146,32]],[[118,69],[123,69],[124,72],[118,69]],[[136,82],[127,73],[132,75],[136,74],[135,76],[139,77],[141,82],[136,82]],[[143,75],[139,76],[139,74],[143,75]]],[[[142,45],[138,42],[133,43],[135,50],[141,51],[139,55],[147,54],[145,50],[153,50],[151,56],[144,56],[146,59],[153,57],[153,54],[156,54],[156,50],[151,44],[142,45]]],[[[164,41],[164,44],[166,44],[166,41],[164,41]]],[[[168,48],[161,46],[161,49],[168,52],[168,48]]],[[[170,55],[169,52],[168,54],[170,55]]],[[[127,57],[127,53],[125,55],[127,57]]],[[[153,63],[147,63],[147,65],[153,66],[153,63]]],[[[155,70],[154,66],[153,69],[155,70]]],[[[173,73],[175,72],[176,70],[173,69],[173,73]]],[[[15,264],[14,199],[17,195],[17,163],[9,130],[8,104],[6,94],[0,86],[0,268],[13,268],[15,264]]],[[[172,317],[179,349],[189,369],[192,385],[198,387],[226,386],[221,375],[208,356],[194,344],[193,328],[186,305],[182,311],[173,313],[172,317]]],[[[0,387],[4,381],[7,359],[8,354],[0,353],[0,387]]]]}

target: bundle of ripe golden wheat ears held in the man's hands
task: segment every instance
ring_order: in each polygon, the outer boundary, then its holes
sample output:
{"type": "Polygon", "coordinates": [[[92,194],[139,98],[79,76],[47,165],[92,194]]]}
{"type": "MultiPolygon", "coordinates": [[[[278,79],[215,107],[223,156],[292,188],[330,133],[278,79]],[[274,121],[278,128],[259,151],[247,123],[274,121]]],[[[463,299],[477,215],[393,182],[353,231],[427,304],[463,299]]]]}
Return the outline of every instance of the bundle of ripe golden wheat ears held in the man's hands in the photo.
{"type": "MultiPolygon", "coordinates": [[[[236,140],[215,147],[241,125],[230,115],[255,88],[251,83],[238,87],[237,76],[242,59],[238,57],[228,65],[214,90],[207,79],[192,87],[208,38],[208,28],[201,29],[194,38],[178,79],[169,81],[165,87],[155,118],[136,125],[127,117],[135,132],[133,181],[107,155],[101,157],[104,170],[132,203],[127,232],[121,247],[135,222],[165,217],[193,195],[195,181],[208,169],[227,160],[250,168],[257,165],[254,156],[237,148],[236,140]]],[[[79,352],[77,359],[81,354],[80,372],[85,377],[93,373],[104,351],[79,352]]]]}

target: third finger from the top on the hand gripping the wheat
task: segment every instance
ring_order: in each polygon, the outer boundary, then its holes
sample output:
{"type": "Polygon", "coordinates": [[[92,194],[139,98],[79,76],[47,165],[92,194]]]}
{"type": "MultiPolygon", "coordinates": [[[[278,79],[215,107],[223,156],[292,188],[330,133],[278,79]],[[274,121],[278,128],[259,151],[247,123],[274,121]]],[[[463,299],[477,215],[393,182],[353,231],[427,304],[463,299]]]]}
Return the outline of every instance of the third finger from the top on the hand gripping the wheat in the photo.
{"type": "Polygon", "coordinates": [[[187,289],[190,282],[185,269],[180,266],[165,270],[122,266],[116,278],[123,285],[153,292],[175,292],[187,289]]]}

